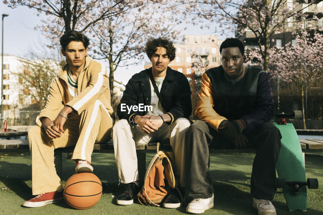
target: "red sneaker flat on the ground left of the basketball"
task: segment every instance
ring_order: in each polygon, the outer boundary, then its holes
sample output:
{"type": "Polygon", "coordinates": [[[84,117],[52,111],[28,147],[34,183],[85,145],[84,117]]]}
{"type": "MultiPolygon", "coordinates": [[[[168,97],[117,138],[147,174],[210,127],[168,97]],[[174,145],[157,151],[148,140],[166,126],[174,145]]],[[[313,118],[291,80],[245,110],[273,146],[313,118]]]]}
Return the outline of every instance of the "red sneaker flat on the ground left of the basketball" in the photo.
{"type": "Polygon", "coordinates": [[[25,201],[23,206],[29,208],[41,207],[50,203],[58,202],[64,200],[63,190],[53,191],[49,193],[42,193],[32,198],[28,201],[25,201]]]}

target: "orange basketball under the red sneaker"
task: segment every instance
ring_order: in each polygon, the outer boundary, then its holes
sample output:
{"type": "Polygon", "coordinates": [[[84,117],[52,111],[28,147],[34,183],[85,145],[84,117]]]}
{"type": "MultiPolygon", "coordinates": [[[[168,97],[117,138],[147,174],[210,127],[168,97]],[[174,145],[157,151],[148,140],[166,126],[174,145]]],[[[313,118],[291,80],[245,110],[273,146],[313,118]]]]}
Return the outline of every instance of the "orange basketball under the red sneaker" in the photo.
{"type": "Polygon", "coordinates": [[[84,210],[93,207],[102,195],[100,179],[89,172],[72,175],[64,186],[64,199],[73,208],[84,210]]]}

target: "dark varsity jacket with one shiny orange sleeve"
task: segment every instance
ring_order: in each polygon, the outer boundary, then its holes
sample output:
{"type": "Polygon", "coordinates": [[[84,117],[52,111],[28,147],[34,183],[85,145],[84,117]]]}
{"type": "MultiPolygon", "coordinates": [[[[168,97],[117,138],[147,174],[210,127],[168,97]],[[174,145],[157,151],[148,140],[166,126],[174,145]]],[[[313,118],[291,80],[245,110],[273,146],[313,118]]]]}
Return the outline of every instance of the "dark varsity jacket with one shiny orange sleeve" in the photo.
{"type": "Polygon", "coordinates": [[[202,76],[195,115],[212,128],[234,121],[240,132],[253,130],[274,116],[274,100],[268,74],[259,68],[243,65],[237,79],[230,80],[221,66],[202,76]]]}

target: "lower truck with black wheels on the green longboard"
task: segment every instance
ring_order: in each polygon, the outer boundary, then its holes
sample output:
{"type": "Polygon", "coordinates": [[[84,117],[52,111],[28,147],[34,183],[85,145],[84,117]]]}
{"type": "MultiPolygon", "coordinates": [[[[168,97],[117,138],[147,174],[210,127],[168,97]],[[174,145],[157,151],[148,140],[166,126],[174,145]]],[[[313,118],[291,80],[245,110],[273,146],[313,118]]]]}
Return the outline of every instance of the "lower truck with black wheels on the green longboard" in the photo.
{"type": "Polygon", "coordinates": [[[299,189],[307,186],[308,189],[318,189],[318,179],[308,178],[307,182],[303,181],[286,181],[285,178],[277,178],[277,188],[285,188],[288,185],[293,195],[299,195],[299,189]]]}

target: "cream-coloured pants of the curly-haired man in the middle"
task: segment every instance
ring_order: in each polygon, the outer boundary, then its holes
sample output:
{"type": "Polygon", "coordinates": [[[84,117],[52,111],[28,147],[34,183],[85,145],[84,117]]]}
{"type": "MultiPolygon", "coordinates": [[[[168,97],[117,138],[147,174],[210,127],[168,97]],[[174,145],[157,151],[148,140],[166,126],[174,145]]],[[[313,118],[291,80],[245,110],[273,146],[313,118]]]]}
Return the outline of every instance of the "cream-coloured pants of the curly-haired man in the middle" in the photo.
{"type": "Polygon", "coordinates": [[[116,122],[112,129],[112,139],[120,182],[130,183],[139,179],[136,144],[164,141],[168,138],[175,156],[176,184],[187,187],[188,156],[186,140],[190,125],[188,119],[178,118],[171,125],[164,123],[157,131],[146,134],[139,129],[138,125],[133,127],[126,119],[116,122]]]}

